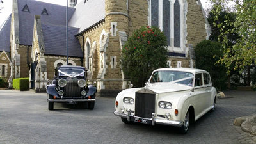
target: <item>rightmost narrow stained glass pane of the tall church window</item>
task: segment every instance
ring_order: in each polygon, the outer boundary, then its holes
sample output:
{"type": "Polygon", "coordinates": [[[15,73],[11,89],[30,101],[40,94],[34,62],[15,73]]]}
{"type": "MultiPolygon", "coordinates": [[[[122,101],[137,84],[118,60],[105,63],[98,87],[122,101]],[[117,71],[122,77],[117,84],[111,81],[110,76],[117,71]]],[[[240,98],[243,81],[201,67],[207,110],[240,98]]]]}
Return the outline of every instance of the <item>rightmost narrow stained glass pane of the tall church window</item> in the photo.
{"type": "Polygon", "coordinates": [[[174,46],[180,47],[180,4],[179,0],[174,3],[174,46]]]}

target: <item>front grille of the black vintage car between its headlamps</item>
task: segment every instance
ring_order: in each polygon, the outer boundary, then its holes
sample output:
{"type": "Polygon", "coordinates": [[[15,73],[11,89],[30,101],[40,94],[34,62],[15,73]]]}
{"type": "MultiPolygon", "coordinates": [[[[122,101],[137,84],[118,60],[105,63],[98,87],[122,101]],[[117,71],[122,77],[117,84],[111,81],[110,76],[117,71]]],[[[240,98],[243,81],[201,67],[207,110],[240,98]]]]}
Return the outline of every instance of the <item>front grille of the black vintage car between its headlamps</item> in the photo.
{"type": "Polygon", "coordinates": [[[81,88],[78,86],[78,79],[66,79],[67,85],[64,87],[63,98],[80,98],[81,88]]]}

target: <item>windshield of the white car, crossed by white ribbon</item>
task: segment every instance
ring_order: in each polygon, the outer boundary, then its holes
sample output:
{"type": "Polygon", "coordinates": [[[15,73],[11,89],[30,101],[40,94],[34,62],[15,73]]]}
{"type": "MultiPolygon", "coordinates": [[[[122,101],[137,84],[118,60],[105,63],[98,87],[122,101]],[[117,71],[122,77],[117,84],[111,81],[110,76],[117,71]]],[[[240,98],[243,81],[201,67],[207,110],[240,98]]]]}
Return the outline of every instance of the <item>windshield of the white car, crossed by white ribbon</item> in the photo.
{"type": "Polygon", "coordinates": [[[152,74],[150,83],[172,82],[192,86],[193,76],[194,75],[190,72],[180,72],[171,70],[156,71],[152,74]]]}

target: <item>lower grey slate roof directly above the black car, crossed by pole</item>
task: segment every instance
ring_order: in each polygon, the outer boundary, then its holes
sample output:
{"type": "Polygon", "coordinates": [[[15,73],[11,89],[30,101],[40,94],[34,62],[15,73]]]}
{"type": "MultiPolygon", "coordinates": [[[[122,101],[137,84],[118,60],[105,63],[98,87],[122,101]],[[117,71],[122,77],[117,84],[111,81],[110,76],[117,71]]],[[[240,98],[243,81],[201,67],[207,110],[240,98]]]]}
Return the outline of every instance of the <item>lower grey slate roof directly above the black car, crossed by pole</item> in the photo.
{"type": "MultiPolygon", "coordinates": [[[[66,56],[66,26],[42,24],[45,54],[66,56]]],[[[78,28],[68,27],[68,56],[83,57],[79,40],[74,36],[78,28]]]]}

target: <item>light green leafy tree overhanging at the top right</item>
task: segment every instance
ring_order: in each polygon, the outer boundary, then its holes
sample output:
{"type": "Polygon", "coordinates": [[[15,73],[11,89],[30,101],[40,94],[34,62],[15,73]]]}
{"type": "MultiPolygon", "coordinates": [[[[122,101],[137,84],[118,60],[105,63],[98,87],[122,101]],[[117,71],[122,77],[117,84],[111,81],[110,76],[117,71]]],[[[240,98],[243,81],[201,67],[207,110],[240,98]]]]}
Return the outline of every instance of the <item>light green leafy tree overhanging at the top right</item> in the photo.
{"type": "Polygon", "coordinates": [[[234,70],[243,71],[253,63],[256,58],[256,1],[255,0],[213,0],[216,9],[212,11],[214,13],[214,20],[218,20],[220,13],[223,10],[230,11],[230,7],[227,7],[227,3],[233,2],[234,12],[236,12],[236,19],[234,22],[230,20],[224,20],[216,26],[221,29],[220,39],[223,39],[222,47],[224,56],[220,59],[220,63],[225,63],[228,70],[233,68],[234,70]],[[234,25],[234,28],[223,31],[225,26],[234,25]],[[238,33],[239,38],[236,40],[236,44],[228,46],[227,35],[230,33],[238,33]],[[233,64],[234,63],[234,64],[233,64]],[[233,67],[234,65],[234,67],[233,67]]]}

